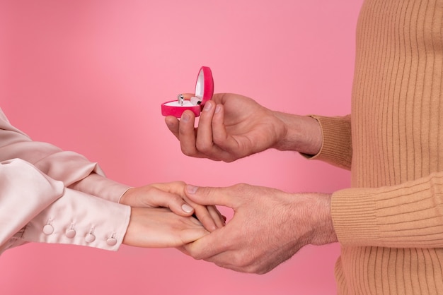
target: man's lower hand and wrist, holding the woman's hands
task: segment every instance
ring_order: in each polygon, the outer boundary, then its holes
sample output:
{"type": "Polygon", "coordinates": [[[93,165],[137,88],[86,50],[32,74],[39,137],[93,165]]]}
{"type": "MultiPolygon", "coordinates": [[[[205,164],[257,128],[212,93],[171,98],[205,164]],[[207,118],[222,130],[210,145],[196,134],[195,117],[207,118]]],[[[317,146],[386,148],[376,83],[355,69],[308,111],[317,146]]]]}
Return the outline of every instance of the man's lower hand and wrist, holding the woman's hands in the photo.
{"type": "Polygon", "coordinates": [[[234,210],[225,227],[184,246],[185,253],[239,272],[263,274],[307,244],[337,241],[330,195],[284,193],[238,184],[228,188],[187,187],[190,200],[234,210]]]}

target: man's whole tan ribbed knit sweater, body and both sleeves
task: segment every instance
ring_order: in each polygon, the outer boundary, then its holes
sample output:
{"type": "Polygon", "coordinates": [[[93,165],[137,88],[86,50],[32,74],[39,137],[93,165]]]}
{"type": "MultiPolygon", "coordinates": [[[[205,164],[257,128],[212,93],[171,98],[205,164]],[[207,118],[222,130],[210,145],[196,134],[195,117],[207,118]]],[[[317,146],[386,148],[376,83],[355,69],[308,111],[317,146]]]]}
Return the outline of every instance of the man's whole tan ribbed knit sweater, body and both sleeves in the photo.
{"type": "Polygon", "coordinates": [[[333,193],[339,294],[443,294],[443,0],[366,0],[352,114],[316,117],[333,193]],[[352,126],[352,128],[351,128],[352,126]]]}

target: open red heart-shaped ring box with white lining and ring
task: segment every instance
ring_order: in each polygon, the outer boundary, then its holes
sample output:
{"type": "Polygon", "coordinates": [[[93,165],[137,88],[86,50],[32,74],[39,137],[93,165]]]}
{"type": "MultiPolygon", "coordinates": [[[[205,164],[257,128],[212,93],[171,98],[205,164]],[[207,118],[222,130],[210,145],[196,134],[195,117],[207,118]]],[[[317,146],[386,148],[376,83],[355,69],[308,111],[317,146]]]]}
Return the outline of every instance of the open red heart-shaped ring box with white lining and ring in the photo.
{"type": "Polygon", "coordinates": [[[195,116],[200,116],[202,107],[205,102],[212,98],[214,94],[214,79],[212,78],[211,69],[207,66],[202,66],[197,76],[197,83],[195,83],[195,96],[190,100],[171,100],[161,104],[161,114],[163,116],[176,116],[180,118],[183,112],[190,109],[195,116]]]}

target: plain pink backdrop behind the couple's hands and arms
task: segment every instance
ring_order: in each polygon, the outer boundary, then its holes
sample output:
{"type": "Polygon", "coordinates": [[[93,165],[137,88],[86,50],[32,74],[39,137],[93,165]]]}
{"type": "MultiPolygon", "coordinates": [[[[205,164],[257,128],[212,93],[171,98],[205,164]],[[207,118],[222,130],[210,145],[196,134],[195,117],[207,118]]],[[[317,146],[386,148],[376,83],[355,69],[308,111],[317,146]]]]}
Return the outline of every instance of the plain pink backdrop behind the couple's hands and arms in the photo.
{"type": "MultiPolygon", "coordinates": [[[[1,0],[0,107],[34,140],[139,186],[183,180],[333,192],[349,172],[270,150],[226,164],[181,154],[160,104],[210,66],[216,92],[297,114],[350,112],[362,0],[1,0]]],[[[222,208],[222,210],[226,210],[222,208]]],[[[229,211],[224,211],[229,214],[229,211]]],[[[266,275],[175,249],[28,244],[0,256],[1,294],[335,294],[338,244],[266,275]]]]}

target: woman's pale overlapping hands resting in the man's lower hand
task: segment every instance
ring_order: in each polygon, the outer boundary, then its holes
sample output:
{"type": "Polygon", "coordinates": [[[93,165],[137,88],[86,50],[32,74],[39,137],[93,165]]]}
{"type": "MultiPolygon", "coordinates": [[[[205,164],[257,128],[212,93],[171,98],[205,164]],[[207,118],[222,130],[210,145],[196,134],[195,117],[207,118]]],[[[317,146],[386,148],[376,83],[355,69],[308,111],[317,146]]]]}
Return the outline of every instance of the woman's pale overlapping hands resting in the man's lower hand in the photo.
{"type": "Polygon", "coordinates": [[[120,203],[131,206],[123,243],[148,248],[179,247],[224,226],[224,218],[214,206],[187,200],[184,189],[182,181],[154,183],[130,188],[122,195],[120,203]]]}

